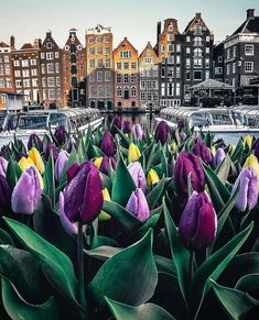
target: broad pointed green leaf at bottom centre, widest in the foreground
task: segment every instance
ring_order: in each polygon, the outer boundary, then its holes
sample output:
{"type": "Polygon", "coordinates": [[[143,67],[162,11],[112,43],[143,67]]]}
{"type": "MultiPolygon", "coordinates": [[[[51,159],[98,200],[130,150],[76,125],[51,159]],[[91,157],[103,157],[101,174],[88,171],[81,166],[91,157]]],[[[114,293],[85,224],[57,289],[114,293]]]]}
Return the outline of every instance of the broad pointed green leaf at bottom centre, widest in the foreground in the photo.
{"type": "Polygon", "coordinates": [[[139,306],[149,300],[158,284],[158,269],[152,253],[153,232],[106,261],[89,284],[94,299],[104,297],[139,306]]]}

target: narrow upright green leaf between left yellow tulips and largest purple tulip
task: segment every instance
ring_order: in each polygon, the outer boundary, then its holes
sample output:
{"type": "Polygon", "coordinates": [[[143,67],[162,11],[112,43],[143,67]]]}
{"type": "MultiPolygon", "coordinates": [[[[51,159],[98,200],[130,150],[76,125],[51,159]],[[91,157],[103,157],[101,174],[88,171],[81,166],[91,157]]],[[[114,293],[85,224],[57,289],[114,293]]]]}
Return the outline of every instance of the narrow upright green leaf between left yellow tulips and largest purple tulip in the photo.
{"type": "Polygon", "coordinates": [[[54,159],[52,153],[46,164],[43,183],[44,183],[43,192],[50,197],[52,206],[53,208],[55,208],[55,174],[54,174],[54,159]]]}

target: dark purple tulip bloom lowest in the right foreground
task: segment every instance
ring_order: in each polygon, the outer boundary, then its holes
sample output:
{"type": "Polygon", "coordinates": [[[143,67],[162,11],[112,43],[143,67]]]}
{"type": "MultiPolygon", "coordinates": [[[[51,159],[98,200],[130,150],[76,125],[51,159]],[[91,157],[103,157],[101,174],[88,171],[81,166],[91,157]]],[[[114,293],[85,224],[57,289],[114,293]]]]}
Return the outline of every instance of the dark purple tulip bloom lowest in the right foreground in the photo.
{"type": "Polygon", "coordinates": [[[179,234],[188,250],[208,246],[217,231],[217,214],[206,192],[193,192],[182,213],[179,234]]]}

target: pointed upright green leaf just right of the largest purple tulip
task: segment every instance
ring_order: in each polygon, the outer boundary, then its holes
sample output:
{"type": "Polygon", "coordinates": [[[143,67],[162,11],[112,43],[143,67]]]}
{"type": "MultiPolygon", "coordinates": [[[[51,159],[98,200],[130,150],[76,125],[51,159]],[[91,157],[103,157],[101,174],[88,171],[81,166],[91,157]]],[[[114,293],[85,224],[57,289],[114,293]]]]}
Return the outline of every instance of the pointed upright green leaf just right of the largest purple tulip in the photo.
{"type": "Polygon", "coordinates": [[[115,172],[111,200],[126,207],[136,188],[134,181],[120,156],[115,172]]]}

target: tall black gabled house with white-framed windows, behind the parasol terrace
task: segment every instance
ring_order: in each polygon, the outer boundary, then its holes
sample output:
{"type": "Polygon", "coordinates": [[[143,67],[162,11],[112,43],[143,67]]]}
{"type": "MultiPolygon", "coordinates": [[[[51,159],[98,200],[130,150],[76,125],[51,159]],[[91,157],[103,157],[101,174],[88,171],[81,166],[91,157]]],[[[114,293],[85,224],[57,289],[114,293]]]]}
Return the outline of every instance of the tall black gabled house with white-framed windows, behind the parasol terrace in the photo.
{"type": "Polygon", "coordinates": [[[213,77],[214,35],[196,13],[184,30],[184,100],[190,102],[190,87],[213,77]]]}

